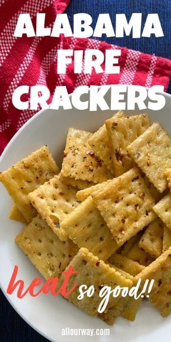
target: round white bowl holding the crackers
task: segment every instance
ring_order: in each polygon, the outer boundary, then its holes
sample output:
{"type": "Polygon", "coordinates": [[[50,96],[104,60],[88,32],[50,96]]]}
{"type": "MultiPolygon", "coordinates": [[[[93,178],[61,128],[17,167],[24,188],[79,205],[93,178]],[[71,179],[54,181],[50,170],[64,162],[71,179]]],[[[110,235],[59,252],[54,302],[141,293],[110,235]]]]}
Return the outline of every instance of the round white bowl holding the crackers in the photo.
{"type": "MultiPolygon", "coordinates": [[[[166,105],[162,110],[129,111],[148,112],[151,122],[159,121],[171,134],[171,95],[164,94],[166,105]]],[[[106,101],[109,102],[109,94],[106,101]]],[[[32,117],[12,138],[0,157],[0,171],[7,169],[21,158],[47,145],[58,165],[61,165],[62,155],[69,127],[95,131],[105,120],[113,115],[110,110],[89,112],[88,110],[52,110],[45,109],[32,117]]],[[[160,342],[166,340],[171,330],[171,317],[163,319],[160,314],[144,301],[137,313],[136,320],[129,322],[119,318],[113,326],[92,318],[82,312],[61,296],[39,295],[32,298],[26,295],[18,299],[16,291],[6,294],[14,265],[19,266],[17,279],[24,280],[25,289],[31,281],[40,277],[38,271],[15,244],[15,236],[21,232],[22,224],[8,219],[12,200],[2,184],[0,184],[0,287],[19,315],[34,329],[55,342],[160,342]],[[62,329],[69,328],[109,328],[110,336],[63,336],[62,329]]],[[[42,278],[43,279],[43,278],[42,278]]]]}

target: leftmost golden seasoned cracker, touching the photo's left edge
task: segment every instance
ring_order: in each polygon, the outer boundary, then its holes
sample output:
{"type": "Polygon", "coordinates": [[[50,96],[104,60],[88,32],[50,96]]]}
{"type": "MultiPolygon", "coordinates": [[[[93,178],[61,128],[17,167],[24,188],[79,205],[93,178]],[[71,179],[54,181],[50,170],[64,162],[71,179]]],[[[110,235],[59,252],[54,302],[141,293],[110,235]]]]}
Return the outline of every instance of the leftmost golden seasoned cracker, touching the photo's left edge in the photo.
{"type": "Polygon", "coordinates": [[[30,204],[28,193],[37,189],[59,173],[49,149],[46,146],[31,153],[8,170],[0,173],[0,181],[11,195],[27,222],[36,215],[30,204]]]}

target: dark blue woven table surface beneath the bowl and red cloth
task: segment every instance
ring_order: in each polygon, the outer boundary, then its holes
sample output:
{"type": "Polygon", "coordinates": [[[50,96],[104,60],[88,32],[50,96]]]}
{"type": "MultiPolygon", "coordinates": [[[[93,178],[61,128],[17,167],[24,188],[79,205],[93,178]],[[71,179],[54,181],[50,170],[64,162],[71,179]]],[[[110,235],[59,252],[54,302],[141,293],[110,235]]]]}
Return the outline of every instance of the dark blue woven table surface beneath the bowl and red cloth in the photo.
{"type": "MultiPolygon", "coordinates": [[[[142,28],[148,13],[158,13],[164,37],[132,39],[131,36],[124,38],[104,36],[101,40],[171,59],[171,0],[71,0],[66,9],[71,25],[73,14],[80,12],[90,14],[94,24],[99,13],[109,13],[114,27],[116,13],[125,13],[128,20],[132,13],[142,13],[142,28]]],[[[171,83],[168,92],[171,94],[171,83]]],[[[0,342],[45,341],[48,340],[21,319],[0,291],[0,342]]]]}

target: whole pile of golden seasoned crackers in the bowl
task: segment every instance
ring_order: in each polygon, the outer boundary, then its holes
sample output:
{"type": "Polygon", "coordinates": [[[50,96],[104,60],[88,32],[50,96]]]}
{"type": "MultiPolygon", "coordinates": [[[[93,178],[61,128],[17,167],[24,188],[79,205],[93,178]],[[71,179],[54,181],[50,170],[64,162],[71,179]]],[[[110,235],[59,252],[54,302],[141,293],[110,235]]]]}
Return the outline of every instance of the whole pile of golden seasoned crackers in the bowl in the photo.
{"type": "Polygon", "coordinates": [[[26,223],[16,243],[45,279],[69,265],[67,299],[113,324],[134,321],[142,298],[110,296],[107,285],[132,287],[154,279],[150,302],[171,313],[171,137],[147,114],[119,111],[95,133],[69,128],[61,171],[46,146],[7,171],[0,181],[14,205],[9,217],[26,223]],[[94,286],[79,300],[79,286],[94,286]]]}

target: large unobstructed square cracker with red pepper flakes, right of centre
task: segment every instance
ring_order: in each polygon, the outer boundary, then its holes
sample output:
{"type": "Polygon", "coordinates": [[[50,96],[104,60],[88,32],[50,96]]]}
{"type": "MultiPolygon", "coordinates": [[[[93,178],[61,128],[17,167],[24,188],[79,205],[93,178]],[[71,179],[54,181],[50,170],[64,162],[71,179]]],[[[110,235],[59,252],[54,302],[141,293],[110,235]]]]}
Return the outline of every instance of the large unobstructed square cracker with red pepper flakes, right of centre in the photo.
{"type": "Polygon", "coordinates": [[[154,199],[137,168],[91,195],[119,246],[156,218],[154,199]]]}

